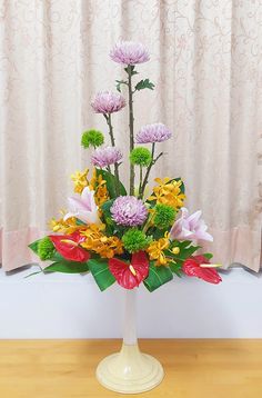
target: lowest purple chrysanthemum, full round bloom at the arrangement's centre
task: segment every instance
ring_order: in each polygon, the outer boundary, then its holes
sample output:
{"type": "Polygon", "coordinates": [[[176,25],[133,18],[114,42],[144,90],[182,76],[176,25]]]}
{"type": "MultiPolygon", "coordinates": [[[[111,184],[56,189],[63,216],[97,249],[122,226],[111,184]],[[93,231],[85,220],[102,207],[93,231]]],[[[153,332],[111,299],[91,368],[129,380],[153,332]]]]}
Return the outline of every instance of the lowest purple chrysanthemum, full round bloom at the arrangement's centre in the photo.
{"type": "Polygon", "coordinates": [[[118,225],[127,227],[141,226],[148,217],[143,201],[131,196],[118,197],[110,211],[118,225]]]}

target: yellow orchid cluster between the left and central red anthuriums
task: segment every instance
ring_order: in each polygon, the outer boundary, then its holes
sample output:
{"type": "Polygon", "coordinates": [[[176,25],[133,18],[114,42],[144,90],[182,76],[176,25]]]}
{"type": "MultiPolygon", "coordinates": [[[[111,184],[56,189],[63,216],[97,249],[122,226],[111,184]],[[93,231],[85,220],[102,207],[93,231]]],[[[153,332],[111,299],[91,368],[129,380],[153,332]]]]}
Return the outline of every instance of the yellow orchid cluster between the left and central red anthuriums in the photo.
{"type": "Polygon", "coordinates": [[[81,232],[85,241],[81,246],[87,250],[97,252],[102,258],[112,258],[123,252],[123,246],[118,237],[107,237],[102,232],[104,226],[91,225],[81,232]]]}

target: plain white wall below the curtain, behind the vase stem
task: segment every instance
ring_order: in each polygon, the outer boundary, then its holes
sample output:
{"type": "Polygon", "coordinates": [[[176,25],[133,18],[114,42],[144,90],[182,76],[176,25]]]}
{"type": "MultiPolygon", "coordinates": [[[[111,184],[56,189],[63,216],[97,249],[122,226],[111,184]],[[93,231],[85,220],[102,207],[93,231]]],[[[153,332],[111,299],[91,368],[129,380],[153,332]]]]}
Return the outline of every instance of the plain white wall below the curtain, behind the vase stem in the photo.
{"type": "MultiPolygon", "coordinates": [[[[0,338],[120,337],[123,290],[90,276],[0,271],[0,338]]],[[[235,268],[219,286],[175,279],[138,297],[139,337],[262,338],[262,276],[235,268]]]]}

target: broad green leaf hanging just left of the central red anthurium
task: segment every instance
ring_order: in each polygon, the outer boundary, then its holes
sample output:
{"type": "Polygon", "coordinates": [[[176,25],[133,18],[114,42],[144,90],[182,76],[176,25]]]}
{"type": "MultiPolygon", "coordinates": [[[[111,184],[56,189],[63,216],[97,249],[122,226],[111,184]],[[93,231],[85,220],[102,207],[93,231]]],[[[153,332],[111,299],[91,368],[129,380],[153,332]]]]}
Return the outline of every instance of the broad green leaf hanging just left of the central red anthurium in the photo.
{"type": "Polygon", "coordinates": [[[115,282],[114,276],[110,272],[108,259],[99,258],[88,261],[89,269],[101,291],[108,289],[115,282]]]}

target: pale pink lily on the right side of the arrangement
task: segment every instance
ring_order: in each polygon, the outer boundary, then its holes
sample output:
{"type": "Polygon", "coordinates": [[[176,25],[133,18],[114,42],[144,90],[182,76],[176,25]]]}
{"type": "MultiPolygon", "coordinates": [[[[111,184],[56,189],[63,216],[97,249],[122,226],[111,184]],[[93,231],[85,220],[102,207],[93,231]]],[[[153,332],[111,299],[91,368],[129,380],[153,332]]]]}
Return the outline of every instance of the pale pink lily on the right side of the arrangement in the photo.
{"type": "Polygon", "coordinates": [[[170,231],[172,240],[208,240],[213,241],[213,237],[206,232],[208,226],[201,219],[202,211],[189,215],[185,207],[181,208],[181,217],[174,222],[170,231]]]}

